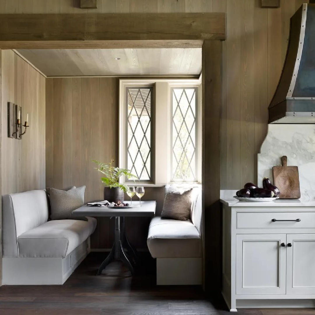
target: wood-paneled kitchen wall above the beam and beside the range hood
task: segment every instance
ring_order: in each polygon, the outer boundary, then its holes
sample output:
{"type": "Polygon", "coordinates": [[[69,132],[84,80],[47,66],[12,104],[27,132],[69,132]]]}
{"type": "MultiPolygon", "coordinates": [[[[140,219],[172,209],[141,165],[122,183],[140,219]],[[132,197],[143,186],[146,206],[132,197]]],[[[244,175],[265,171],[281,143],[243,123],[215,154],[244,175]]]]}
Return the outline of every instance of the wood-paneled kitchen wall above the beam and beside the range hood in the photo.
{"type": "Polygon", "coordinates": [[[261,9],[260,0],[98,0],[79,9],[74,0],[0,0],[0,13],[225,12],[221,189],[256,181],[256,154],[267,131],[267,107],[280,77],[289,19],[308,0],[282,0],[261,9]]]}

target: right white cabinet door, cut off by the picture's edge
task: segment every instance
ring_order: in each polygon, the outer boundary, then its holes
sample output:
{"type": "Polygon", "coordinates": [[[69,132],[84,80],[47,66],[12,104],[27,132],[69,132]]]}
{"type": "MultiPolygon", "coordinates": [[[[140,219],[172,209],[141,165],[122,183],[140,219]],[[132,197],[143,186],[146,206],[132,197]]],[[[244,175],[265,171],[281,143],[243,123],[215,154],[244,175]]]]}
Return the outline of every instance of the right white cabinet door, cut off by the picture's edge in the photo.
{"type": "Polygon", "coordinates": [[[315,294],[315,234],[288,234],[287,294],[315,294]]]}

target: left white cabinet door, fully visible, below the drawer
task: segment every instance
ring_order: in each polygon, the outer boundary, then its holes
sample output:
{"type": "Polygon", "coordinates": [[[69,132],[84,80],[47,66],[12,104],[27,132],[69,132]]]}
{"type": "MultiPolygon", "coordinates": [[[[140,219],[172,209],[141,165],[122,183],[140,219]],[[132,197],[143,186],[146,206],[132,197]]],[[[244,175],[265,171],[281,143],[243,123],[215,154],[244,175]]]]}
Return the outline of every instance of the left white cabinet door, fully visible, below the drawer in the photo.
{"type": "Polygon", "coordinates": [[[285,234],[236,237],[236,294],[285,294],[285,234]]]}

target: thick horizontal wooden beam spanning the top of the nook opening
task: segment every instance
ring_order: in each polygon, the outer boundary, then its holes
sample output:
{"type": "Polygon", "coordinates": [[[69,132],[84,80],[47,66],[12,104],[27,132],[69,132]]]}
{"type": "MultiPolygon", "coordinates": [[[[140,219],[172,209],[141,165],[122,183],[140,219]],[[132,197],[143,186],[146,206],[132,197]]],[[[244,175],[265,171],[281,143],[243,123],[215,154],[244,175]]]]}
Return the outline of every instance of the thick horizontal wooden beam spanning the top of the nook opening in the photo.
{"type": "Polygon", "coordinates": [[[225,25],[224,13],[0,14],[0,49],[201,47],[225,25]]]}

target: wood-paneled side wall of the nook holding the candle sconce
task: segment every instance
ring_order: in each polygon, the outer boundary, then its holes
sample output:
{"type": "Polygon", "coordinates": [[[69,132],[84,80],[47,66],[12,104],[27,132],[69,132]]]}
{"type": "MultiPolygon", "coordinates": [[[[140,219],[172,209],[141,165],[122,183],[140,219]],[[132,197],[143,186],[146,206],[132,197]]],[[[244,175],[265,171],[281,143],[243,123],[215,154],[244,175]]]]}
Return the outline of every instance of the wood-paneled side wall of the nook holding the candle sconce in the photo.
{"type": "MultiPolygon", "coordinates": [[[[12,50],[0,50],[0,100],[0,196],[44,188],[45,78],[12,50]],[[8,138],[7,102],[22,107],[23,123],[29,114],[30,127],[22,140],[8,138]]],[[[0,240],[1,259],[2,229],[0,240]]]]}

